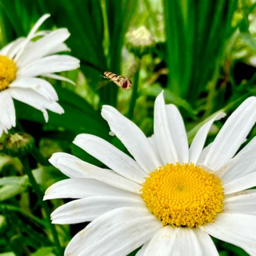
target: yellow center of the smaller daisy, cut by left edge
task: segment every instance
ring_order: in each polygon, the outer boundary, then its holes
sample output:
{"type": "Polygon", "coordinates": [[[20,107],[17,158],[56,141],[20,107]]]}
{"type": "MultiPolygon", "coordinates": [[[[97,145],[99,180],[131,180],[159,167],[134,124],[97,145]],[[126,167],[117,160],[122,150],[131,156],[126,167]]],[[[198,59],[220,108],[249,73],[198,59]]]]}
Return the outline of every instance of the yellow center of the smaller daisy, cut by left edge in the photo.
{"type": "Polygon", "coordinates": [[[12,59],[0,55],[0,91],[5,90],[15,79],[17,67],[12,59]]]}

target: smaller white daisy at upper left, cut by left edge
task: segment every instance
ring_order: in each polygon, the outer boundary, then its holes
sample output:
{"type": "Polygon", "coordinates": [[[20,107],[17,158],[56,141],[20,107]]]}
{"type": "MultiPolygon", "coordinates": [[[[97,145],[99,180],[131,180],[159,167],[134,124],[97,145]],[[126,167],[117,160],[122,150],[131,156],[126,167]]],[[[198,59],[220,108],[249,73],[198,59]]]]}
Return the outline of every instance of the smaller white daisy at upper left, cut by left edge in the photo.
{"type": "Polygon", "coordinates": [[[7,133],[15,127],[13,99],[41,110],[45,121],[48,121],[46,110],[64,113],[53,86],[38,76],[71,82],[54,73],[77,69],[79,60],[57,54],[69,50],[63,43],[70,35],[66,28],[36,32],[49,16],[43,15],[26,38],[18,38],[0,51],[0,137],[3,131],[7,133]]]}

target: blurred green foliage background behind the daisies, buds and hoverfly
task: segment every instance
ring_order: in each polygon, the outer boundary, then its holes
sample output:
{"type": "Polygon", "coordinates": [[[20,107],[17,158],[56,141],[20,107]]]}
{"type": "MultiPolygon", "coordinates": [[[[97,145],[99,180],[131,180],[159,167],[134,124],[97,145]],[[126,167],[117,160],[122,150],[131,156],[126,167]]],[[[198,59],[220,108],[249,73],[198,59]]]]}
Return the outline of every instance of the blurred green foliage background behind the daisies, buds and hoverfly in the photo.
{"type": "MultiPolygon", "coordinates": [[[[0,46],[26,36],[44,13],[51,13],[51,18],[40,29],[68,28],[71,36],[67,45],[71,55],[81,61],[79,70],[63,74],[77,86],[51,81],[64,115],[49,113],[49,123],[44,123],[38,110],[15,102],[20,121],[17,130],[35,138],[45,159],[53,152],[69,152],[101,166],[72,145],[79,133],[98,135],[125,150],[118,139],[108,135],[108,126],[100,116],[102,104],[117,107],[149,136],[154,99],[164,90],[166,103],[174,103],[181,110],[191,141],[216,111],[230,113],[245,98],[255,95],[253,1],[0,0],[0,46]],[[156,44],[150,53],[138,58],[128,51],[125,34],[142,25],[156,44]],[[104,71],[127,75],[130,69],[135,69],[134,77],[129,76],[134,86],[128,91],[106,84],[100,76],[104,71]]],[[[208,143],[223,122],[214,126],[208,143]]],[[[255,134],[254,129],[250,136],[255,134]]],[[[4,135],[0,150],[3,139],[4,135]]],[[[45,161],[31,159],[30,165],[42,191],[65,179],[45,161]]],[[[63,200],[52,200],[49,206],[53,210],[61,204],[63,200]]],[[[61,246],[64,248],[84,226],[57,226],[61,246]]],[[[220,255],[247,255],[228,243],[215,243],[220,255]]],[[[22,163],[0,151],[0,255],[31,254],[50,256],[57,252],[40,199],[30,187],[22,163]]]]}

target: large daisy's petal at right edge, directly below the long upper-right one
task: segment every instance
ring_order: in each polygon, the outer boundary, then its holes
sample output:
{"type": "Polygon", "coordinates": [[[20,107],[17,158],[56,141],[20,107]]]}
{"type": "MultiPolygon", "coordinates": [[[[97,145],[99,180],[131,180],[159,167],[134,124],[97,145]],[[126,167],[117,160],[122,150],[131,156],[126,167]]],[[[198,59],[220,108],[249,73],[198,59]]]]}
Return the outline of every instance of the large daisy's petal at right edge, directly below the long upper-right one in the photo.
{"type": "Polygon", "coordinates": [[[228,183],[256,170],[256,137],[254,137],[234,158],[220,167],[222,181],[228,183]]]}

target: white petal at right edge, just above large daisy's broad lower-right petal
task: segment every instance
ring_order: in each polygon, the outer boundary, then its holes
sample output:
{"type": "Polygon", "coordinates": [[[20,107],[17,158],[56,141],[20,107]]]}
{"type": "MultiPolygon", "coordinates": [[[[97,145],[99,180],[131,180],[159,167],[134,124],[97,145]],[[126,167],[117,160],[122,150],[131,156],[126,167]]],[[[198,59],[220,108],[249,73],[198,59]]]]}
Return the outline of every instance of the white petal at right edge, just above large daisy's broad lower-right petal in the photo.
{"type": "Polygon", "coordinates": [[[256,189],[234,194],[223,200],[224,212],[256,215],[256,189]]]}

